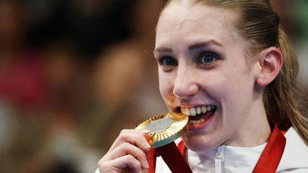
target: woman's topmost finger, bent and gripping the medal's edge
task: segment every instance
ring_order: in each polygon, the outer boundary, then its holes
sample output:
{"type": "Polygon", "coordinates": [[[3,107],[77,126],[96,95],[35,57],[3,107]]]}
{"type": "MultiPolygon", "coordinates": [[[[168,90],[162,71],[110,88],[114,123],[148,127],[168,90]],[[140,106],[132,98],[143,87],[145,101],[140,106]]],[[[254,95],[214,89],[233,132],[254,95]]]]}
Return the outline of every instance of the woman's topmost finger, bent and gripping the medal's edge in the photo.
{"type": "Polygon", "coordinates": [[[146,141],[146,137],[149,136],[149,131],[145,130],[136,130],[136,129],[124,129],[119,134],[119,137],[116,138],[114,144],[109,149],[109,152],[119,147],[119,145],[123,144],[124,142],[128,142],[130,144],[136,145],[140,149],[144,150],[144,152],[148,152],[151,146],[146,141]]]}

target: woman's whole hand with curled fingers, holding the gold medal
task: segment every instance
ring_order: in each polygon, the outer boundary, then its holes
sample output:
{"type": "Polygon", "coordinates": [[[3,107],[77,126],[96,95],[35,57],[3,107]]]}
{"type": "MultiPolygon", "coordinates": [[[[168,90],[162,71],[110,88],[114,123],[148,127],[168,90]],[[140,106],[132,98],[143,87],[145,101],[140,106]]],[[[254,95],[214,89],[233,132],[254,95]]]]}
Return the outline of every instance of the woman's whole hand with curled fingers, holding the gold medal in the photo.
{"type": "Polygon", "coordinates": [[[149,172],[146,152],[151,146],[146,137],[149,137],[148,130],[122,130],[109,151],[99,160],[100,172],[149,172]]]}

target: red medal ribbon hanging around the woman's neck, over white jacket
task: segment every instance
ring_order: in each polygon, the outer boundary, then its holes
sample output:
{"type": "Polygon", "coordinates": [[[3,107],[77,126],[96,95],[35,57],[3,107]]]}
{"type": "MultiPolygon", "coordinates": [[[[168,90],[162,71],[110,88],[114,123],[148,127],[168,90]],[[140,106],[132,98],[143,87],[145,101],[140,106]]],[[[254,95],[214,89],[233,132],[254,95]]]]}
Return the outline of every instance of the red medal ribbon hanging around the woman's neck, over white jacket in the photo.
{"type": "MultiPolygon", "coordinates": [[[[276,172],[279,162],[282,159],[285,145],[286,138],[284,134],[275,126],[271,137],[269,137],[267,146],[264,148],[252,173],[276,172]]],[[[164,162],[173,173],[191,173],[192,170],[184,159],[185,149],[186,147],[183,141],[179,143],[178,148],[174,142],[172,142],[163,147],[151,149],[147,154],[150,167],[149,172],[155,172],[156,157],[161,155],[164,162]]]]}

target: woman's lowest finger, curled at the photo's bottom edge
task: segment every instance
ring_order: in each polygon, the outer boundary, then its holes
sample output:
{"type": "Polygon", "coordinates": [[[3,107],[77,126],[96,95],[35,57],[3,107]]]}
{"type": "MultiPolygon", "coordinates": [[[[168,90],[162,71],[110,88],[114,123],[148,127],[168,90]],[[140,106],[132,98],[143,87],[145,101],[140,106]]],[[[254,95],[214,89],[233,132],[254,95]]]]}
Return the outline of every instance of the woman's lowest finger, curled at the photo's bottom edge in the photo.
{"type": "Polygon", "coordinates": [[[116,159],[102,162],[99,164],[101,173],[105,172],[122,172],[124,169],[130,168],[131,172],[140,173],[141,163],[131,155],[125,155],[116,159]]]}

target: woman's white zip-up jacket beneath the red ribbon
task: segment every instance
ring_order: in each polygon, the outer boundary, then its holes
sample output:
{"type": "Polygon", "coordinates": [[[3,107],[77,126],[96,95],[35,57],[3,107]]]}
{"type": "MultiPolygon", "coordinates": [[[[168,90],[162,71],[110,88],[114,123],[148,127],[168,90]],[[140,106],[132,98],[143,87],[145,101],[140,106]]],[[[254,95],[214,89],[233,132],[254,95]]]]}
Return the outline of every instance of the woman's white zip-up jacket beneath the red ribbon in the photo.
{"type": "MultiPolygon", "coordinates": [[[[284,154],[277,168],[279,173],[308,173],[308,147],[297,132],[290,128],[285,134],[287,139],[284,154]]],[[[189,166],[192,172],[215,173],[215,159],[217,151],[224,157],[225,173],[250,173],[254,169],[266,144],[257,147],[230,147],[219,146],[209,152],[197,153],[187,151],[189,166]]],[[[216,161],[216,169],[220,169],[219,160],[216,161]]],[[[157,157],[157,173],[171,172],[161,157],[157,157]]],[[[217,172],[219,172],[217,170],[217,172]]]]}

